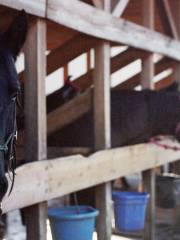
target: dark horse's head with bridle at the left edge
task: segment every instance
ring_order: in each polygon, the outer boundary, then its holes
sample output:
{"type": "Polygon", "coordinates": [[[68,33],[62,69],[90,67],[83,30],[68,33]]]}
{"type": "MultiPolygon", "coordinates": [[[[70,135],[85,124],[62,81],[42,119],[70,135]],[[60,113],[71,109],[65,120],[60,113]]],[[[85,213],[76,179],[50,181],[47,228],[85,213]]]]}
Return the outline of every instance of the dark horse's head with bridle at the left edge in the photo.
{"type": "Polygon", "coordinates": [[[24,11],[15,18],[8,30],[0,34],[0,202],[8,182],[5,171],[12,158],[15,134],[15,99],[20,83],[15,60],[27,34],[27,17],[24,11]]]}

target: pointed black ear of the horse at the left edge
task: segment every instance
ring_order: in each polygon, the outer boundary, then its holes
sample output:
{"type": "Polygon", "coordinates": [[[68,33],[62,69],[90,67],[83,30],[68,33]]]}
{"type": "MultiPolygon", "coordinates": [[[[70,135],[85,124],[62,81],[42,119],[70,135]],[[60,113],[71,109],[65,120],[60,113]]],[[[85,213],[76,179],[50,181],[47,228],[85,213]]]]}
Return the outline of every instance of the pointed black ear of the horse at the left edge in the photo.
{"type": "Polygon", "coordinates": [[[28,18],[26,12],[22,10],[4,33],[5,44],[15,58],[26,40],[27,31],[28,18]]]}

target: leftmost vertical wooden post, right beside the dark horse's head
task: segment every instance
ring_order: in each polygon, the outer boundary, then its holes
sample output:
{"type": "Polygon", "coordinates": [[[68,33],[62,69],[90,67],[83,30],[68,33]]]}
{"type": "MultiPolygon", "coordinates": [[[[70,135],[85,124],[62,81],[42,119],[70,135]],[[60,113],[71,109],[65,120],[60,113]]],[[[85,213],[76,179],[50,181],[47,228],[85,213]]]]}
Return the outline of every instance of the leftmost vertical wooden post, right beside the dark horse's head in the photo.
{"type": "MultiPolygon", "coordinates": [[[[28,162],[47,159],[46,120],[46,23],[38,19],[25,46],[25,156],[28,162]]],[[[38,194],[38,193],[37,193],[38,194]]],[[[28,207],[27,240],[46,239],[46,203],[28,207]]]]}

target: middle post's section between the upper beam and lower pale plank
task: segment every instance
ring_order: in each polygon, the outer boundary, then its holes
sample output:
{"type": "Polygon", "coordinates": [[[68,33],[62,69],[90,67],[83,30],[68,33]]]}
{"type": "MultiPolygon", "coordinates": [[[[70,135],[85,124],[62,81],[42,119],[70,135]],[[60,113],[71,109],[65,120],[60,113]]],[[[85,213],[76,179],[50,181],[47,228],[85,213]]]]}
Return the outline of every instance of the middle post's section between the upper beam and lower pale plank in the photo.
{"type": "Polygon", "coordinates": [[[96,149],[110,148],[110,46],[103,42],[95,49],[94,119],[96,149]]]}

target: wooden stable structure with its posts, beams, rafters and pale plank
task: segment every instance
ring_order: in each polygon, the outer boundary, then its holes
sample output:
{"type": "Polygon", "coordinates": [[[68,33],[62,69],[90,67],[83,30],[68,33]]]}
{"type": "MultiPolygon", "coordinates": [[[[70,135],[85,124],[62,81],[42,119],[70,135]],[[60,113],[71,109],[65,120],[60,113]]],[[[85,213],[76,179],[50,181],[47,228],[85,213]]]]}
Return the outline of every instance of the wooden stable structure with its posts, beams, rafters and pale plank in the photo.
{"type": "Polygon", "coordinates": [[[47,201],[96,186],[98,239],[110,240],[111,181],[142,172],[143,188],[150,193],[143,238],[155,239],[155,168],[176,162],[178,173],[179,152],[151,143],[111,148],[111,74],[139,60],[140,71],[113,87],[161,89],[174,80],[180,83],[180,1],[0,0],[1,32],[21,9],[29,15],[29,33],[19,72],[25,129],[18,134],[17,156],[27,163],[16,169],[3,212],[26,208],[27,239],[44,240],[47,201]],[[111,56],[117,47],[124,50],[111,56]],[[63,68],[65,80],[68,64],[82,54],[86,72],[73,80],[82,93],[47,114],[46,76],[63,68]],[[48,146],[50,136],[93,105],[95,149],[48,146]]]}

